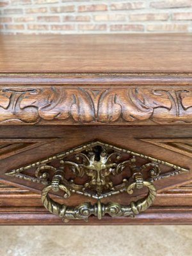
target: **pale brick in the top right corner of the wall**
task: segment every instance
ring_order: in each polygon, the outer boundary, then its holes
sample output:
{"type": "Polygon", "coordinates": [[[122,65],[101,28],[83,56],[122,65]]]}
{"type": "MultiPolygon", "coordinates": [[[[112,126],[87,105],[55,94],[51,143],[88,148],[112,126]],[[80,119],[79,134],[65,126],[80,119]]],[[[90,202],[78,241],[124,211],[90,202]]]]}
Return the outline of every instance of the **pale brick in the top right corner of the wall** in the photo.
{"type": "Polygon", "coordinates": [[[164,8],[181,8],[192,6],[191,0],[164,0],[150,3],[151,7],[164,8]]]}

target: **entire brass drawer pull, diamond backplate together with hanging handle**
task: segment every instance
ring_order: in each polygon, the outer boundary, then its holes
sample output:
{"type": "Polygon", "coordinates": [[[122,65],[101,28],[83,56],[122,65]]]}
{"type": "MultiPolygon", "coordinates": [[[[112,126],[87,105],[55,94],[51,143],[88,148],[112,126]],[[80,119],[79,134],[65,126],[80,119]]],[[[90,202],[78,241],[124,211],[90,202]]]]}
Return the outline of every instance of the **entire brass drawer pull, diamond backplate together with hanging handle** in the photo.
{"type": "Polygon", "coordinates": [[[100,219],[106,213],[111,216],[134,216],[145,211],[156,196],[152,182],[183,172],[188,170],[125,148],[95,141],[12,170],[6,175],[45,184],[42,202],[49,211],[60,215],[63,220],[87,220],[92,214],[100,219]],[[148,195],[129,205],[100,202],[108,196],[131,194],[134,189],[141,189],[143,186],[148,188],[148,195]],[[64,191],[65,198],[77,193],[95,198],[97,203],[92,205],[88,202],[76,207],[58,204],[49,197],[49,191],[60,189],[64,191]]]}

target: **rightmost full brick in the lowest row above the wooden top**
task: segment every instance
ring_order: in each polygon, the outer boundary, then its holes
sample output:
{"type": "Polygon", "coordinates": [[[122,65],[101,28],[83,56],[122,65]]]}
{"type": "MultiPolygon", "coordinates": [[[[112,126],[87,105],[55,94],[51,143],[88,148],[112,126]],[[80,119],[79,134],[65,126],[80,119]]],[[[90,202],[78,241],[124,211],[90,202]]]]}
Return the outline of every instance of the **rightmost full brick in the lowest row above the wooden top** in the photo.
{"type": "Polygon", "coordinates": [[[188,31],[188,24],[150,24],[147,25],[147,31],[186,32],[188,31]]]}

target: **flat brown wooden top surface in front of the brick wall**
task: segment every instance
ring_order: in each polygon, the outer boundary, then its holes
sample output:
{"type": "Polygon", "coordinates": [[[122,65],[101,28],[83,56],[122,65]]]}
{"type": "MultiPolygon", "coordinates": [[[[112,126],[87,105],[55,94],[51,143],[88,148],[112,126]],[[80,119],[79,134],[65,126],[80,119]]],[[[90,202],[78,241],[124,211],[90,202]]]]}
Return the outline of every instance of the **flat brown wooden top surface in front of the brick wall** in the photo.
{"type": "Polygon", "coordinates": [[[1,72],[192,72],[192,35],[1,35],[1,72]]]}

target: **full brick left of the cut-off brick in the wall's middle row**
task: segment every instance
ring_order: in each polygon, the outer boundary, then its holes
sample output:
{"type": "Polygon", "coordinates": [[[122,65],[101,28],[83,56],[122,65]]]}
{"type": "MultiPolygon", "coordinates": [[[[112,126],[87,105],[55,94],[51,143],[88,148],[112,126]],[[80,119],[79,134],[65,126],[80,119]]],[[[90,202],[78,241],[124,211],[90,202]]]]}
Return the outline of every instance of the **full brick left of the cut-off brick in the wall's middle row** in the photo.
{"type": "Polygon", "coordinates": [[[140,21],[140,20],[168,20],[168,13],[136,13],[129,15],[130,20],[140,21]]]}

